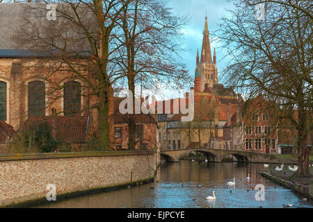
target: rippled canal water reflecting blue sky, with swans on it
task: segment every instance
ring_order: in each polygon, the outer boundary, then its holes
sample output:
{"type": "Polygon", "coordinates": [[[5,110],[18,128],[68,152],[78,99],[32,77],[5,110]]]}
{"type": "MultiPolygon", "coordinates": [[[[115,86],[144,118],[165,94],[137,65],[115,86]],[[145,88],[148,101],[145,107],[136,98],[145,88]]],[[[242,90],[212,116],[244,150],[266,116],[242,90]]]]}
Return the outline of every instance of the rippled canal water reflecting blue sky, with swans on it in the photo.
{"type": "MultiPolygon", "coordinates": [[[[38,207],[313,207],[302,197],[259,176],[264,164],[240,162],[163,162],[150,184],[89,194],[38,207]],[[250,180],[246,177],[250,175],[250,180]],[[235,185],[227,182],[235,178],[235,185]],[[255,186],[264,185],[264,200],[256,200],[255,186]],[[153,188],[152,188],[153,187],[153,188]],[[252,189],[253,188],[253,189],[252,189]],[[216,191],[216,200],[207,200],[216,191]]],[[[257,195],[259,196],[259,195],[257,195]]],[[[261,196],[259,196],[260,198],[261,196]]]]}

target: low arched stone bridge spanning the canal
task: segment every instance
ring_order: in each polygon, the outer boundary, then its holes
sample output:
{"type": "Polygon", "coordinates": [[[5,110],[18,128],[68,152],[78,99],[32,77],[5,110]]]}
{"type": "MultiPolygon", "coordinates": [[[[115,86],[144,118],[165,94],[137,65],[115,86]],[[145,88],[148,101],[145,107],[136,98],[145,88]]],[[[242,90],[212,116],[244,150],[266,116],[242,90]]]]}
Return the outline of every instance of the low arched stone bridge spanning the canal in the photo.
{"type": "Polygon", "coordinates": [[[179,150],[161,150],[161,156],[166,162],[178,162],[179,157],[190,152],[200,152],[207,156],[208,161],[221,162],[228,155],[233,155],[239,162],[279,162],[278,159],[265,153],[253,153],[248,151],[230,151],[211,148],[188,148],[179,150]]]}

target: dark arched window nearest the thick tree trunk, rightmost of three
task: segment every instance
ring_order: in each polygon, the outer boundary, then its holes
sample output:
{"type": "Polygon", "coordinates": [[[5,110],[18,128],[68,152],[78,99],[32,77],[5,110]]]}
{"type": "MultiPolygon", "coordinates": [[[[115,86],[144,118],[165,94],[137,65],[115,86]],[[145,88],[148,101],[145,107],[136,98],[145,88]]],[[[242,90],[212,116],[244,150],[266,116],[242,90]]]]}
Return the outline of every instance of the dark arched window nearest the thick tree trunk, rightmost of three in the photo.
{"type": "Polygon", "coordinates": [[[64,115],[79,116],[81,111],[81,83],[70,81],[64,84],[64,115]]]}

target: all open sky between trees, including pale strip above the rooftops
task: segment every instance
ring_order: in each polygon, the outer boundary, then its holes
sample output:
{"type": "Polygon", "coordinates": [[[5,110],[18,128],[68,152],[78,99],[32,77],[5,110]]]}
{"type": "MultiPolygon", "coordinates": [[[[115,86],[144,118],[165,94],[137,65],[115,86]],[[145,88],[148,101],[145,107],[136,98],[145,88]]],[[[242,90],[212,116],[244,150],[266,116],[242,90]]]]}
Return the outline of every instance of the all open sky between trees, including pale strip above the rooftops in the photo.
{"type": "MultiPolygon", "coordinates": [[[[230,0],[167,0],[168,7],[172,8],[174,15],[188,16],[188,24],[186,24],[184,30],[184,39],[181,44],[184,51],[179,52],[179,56],[182,57],[182,62],[186,65],[188,73],[194,79],[195,76],[195,58],[197,55],[197,49],[201,53],[202,38],[204,30],[205,16],[207,15],[210,42],[211,42],[211,55],[213,56],[214,47],[216,48],[216,65],[218,68],[218,82],[224,83],[222,76],[223,69],[227,65],[227,58],[224,58],[227,53],[220,47],[218,40],[213,40],[212,33],[218,29],[218,23],[223,16],[230,15],[226,9],[230,10],[234,8],[232,1],[230,0]]],[[[213,59],[213,58],[212,58],[213,59]]],[[[229,58],[228,58],[229,59],[229,58]]],[[[143,90],[143,96],[154,95],[159,100],[172,99],[177,97],[183,97],[184,92],[190,91],[190,85],[179,91],[174,91],[166,86],[161,87],[159,92],[155,93],[148,89],[143,90]]],[[[125,92],[123,92],[125,93],[125,92]]],[[[122,93],[122,94],[123,94],[122,93]]],[[[136,94],[141,94],[140,85],[136,87],[136,94]]]]}

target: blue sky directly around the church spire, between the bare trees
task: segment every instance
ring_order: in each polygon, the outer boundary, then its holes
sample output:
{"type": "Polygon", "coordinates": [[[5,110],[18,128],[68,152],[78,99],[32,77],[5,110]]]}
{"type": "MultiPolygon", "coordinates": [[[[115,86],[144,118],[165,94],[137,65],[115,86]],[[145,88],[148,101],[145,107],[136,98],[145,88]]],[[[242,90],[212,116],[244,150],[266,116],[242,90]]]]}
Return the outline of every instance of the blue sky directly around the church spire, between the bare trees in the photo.
{"type": "MultiPolygon", "coordinates": [[[[201,52],[202,32],[207,11],[211,53],[213,56],[214,47],[216,47],[218,74],[222,74],[227,63],[227,60],[223,59],[225,51],[220,48],[220,44],[218,44],[217,40],[212,41],[213,36],[211,33],[214,33],[218,28],[220,17],[229,15],[226,9],[233,8],[233,3],[227,0],[168,0],[168,6],[172,8],[175,15],[188,15],[189,17],[188,24],[186,28],[184,28],[184,40],[182,40],[182,45],[186,51],[179,54],[182,56],[183,62],[186,64],[191,76],[195,74],[195,56],[197,49],[201,52]]],[[[219,80],[220,83],[223,83],[223,80],[219,80]]]]}

